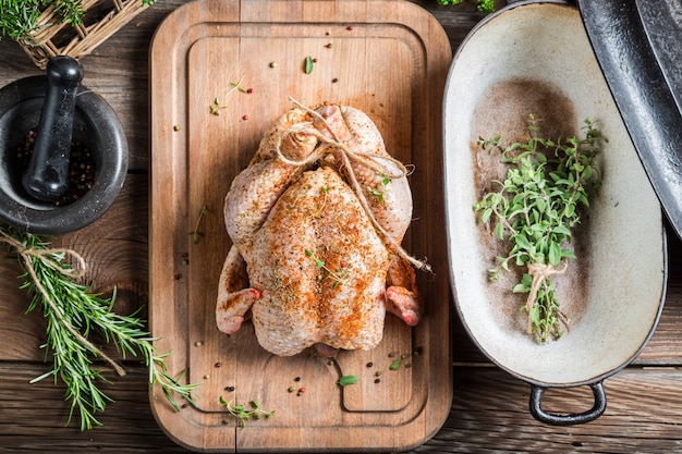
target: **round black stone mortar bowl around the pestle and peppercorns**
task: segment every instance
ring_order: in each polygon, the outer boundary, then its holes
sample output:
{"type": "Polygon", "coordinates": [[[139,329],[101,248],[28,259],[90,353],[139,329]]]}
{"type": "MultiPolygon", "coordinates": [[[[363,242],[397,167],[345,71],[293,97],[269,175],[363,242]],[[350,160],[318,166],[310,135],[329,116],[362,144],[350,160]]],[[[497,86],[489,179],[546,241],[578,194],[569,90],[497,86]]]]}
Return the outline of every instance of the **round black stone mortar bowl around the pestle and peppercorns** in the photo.
{"type": "Polygon", "coordinates": [[[99,95],[80,86],[73,115],[73,138],[92,151],[93,187],[64,206],[29,195],[15,149],[37,130],[46,97],[46,76],[26,77],[0,89],[0,219],[35,234],[62,234],[84,228],[109,209],[127,171],[127,144],[115,112],[99,95]]]}

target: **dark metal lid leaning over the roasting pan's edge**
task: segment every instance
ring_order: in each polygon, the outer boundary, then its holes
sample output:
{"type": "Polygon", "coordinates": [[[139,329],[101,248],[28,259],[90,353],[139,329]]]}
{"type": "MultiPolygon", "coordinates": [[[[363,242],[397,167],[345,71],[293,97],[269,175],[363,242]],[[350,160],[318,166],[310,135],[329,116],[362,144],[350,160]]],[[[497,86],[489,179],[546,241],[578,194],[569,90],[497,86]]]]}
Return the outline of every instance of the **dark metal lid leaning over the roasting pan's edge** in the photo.
{"type": "Polygon", "coordinates": [[[577,0],[609,89],[682,238],[682,3],[577,0]]]}

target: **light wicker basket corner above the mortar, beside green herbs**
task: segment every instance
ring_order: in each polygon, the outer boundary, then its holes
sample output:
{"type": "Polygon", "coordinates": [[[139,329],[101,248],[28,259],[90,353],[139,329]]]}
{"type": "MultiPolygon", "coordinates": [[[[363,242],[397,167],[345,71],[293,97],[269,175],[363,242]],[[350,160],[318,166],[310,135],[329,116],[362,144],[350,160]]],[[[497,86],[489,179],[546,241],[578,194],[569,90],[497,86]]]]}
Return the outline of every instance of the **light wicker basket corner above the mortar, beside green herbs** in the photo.
{"type": "Polygon", "coordinates": [[[74,27],[60,23],[54,7],[50,5],[38,17],[38,28],[32,35],[34,42],[21,46],[45,70],[52,57],[87,56],[147,8],[142,0],[83,0],[83,24],[74,27]]]}

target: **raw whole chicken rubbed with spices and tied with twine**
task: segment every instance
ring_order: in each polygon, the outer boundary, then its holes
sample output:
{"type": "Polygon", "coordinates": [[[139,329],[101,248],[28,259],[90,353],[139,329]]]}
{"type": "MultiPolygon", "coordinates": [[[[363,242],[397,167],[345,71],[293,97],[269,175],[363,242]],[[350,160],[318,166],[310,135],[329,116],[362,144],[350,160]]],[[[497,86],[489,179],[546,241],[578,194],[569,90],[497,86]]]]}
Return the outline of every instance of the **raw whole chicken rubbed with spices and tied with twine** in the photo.
{"type": "Polygon", "coordinates": [[[216,320],[230,335],[249,316],[259,344],[295,355],[315,346],[370,349],[386,311],[419,320],[413,266],[400,247],[412,217],[404,167],[362,111],[294,108],[265,134],[232,182],[232,240],[216,320]]]}

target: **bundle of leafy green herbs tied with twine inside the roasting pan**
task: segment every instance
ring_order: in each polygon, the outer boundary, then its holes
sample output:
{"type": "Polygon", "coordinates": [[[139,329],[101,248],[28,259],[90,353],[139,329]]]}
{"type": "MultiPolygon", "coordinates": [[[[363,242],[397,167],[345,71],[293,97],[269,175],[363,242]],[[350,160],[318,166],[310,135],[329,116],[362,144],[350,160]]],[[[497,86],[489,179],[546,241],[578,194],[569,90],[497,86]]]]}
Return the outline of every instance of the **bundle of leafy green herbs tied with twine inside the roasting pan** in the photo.
{"type": "Polygon", "coordinates": [[[484,149],[500,151],[501,161],[512,167],[504,181],[495,181],[500,189],[487,193],[474,210],[480,211],[484,223],[494,218],[495,235],[511,243],[509,255],[498,257],[500,265],[489,270],[490,279],[509,271],[510,263],[527,267],[513,292],[528,295],[521,310],[527,312],[528,333],[544,343],[562,336],[568,327],[550,278],[563,273],[568,260],[575,258],[565,245],[581,221],[580,207],[589,207],[589,196],[599,185],[595,157],[606,139],[589,120],[582,127],[584,138],[564,142],[540,138],[534,115],[528,124],[531,138],[525,144],[502,148],[499,136],[479,140],[484,149]]]}

